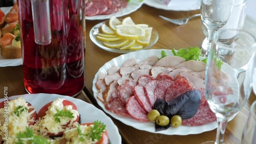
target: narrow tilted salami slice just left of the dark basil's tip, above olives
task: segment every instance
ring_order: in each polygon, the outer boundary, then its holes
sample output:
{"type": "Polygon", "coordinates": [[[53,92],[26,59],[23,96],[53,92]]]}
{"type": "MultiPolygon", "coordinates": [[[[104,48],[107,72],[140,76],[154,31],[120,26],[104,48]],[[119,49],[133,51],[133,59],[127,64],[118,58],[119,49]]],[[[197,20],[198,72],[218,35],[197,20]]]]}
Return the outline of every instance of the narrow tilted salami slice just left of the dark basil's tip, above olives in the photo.
{"type": "Polygon", "coordinates": [[[144,90],[145,90],[147,100],[148,100],[148,102],[150,102],[152,107],[154,106],[154,104],[156,102],[156,97],[155,97],[154,91],[155,91],[157,85],[158,85],[158,81],[153,80],[153,81],[148,82],[144,86],[144,90]]]}

